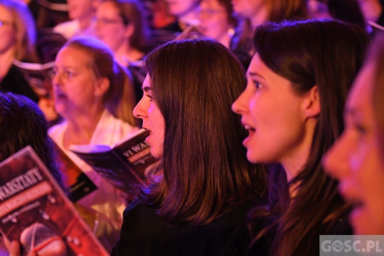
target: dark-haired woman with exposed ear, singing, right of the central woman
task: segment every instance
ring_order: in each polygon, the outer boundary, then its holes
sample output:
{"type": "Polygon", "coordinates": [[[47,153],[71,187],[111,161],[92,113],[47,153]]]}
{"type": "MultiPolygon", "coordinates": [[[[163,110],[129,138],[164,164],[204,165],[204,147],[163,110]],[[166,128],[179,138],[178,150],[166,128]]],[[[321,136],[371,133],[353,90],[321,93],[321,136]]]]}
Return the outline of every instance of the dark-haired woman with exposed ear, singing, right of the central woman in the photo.
{"type": "Polygon", "coordinates": [[[269,202],[249,214],[251,247],[271,255],[318,253],[319,234],[348,234],[346,204],[321,166],[343,131],[343,106],[369,37],[334,20],[268,23],[254,34],[245,91],[233,103],[252,163],[277,164],[269,202]]]}

